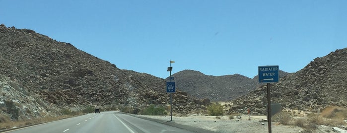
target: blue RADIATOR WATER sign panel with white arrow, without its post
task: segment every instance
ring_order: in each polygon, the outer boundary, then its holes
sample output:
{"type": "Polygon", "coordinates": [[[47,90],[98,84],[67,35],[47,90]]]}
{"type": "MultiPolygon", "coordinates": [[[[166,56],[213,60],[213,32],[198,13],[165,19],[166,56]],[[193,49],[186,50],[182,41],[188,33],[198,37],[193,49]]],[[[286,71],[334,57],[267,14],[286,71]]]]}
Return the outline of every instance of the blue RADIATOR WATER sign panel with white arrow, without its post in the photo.
{"type": "Polygon", "coordinates": [[[258,76],[260,83],[278,82],[278,66],[259,66],[258,76]]]}

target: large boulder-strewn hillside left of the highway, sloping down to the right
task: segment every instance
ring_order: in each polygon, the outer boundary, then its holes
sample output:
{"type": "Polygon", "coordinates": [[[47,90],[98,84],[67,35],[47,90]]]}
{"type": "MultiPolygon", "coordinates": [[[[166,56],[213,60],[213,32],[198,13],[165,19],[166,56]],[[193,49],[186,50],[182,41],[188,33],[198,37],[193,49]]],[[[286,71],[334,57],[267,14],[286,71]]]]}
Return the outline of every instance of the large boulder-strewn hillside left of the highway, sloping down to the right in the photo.
{"type": "MultiPolygon", "coordinates": [[[[1,24],[0,62],[0,115],[13,120],[12,107],[20,119],[59,115],[62,108],[121,104],[141,109],[169,103],[164,79],[119,69],[34,30],[1,24]]],[[[183,113],[208,104],[179,90],[173,102],[173,110],[183,113]]]]}

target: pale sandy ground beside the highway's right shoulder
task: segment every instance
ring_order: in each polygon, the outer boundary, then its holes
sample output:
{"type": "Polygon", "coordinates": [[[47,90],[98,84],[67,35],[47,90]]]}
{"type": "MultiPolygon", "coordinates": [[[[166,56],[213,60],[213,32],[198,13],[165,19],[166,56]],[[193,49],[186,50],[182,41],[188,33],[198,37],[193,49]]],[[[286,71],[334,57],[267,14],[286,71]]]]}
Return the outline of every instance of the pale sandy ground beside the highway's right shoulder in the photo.
{"type": "MultiPolygon", "coordinates": [[[[161,122],[170,121],[170,116],[143,116],[139,117],[160,120],[161,122]]],[[[172,117],[172,122],[181,125],[192,126],[217,133],[269,133],[268,122],[259,122],[266,119],[266,116],[241,116],[241,119],[229,120],[228,116],[187,116],[172,117]],[[250,120],[248,120],[250,118],[250,120]],[[238,121],[237,121],[238,120],[238,121]]],[[[303,129],[297,126],[284,126],[272,123],[272,133],[303,133],[303,129]]]]}

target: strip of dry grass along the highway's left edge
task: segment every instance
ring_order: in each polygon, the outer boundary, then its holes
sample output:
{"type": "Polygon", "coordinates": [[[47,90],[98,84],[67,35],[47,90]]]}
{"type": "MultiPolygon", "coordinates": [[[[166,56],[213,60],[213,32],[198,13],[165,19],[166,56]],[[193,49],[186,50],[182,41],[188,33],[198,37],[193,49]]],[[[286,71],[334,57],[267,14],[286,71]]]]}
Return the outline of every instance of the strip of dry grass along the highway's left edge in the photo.
{"type": "Polygon", "coordinates": [[[36,118],[36,119],[23,120],[23,121],[10,121],[7,116],[0,115],[0,129],[10,129],[13,127],[22,127],[22,126],[26,126],[26,125],[51,122],[51,121],[61,120],[61,119],[70,118],[70,117],[72,117],[72,116],[71,115],[63,115],[63,116],[58,116],[58,117],[36,118]]]}

